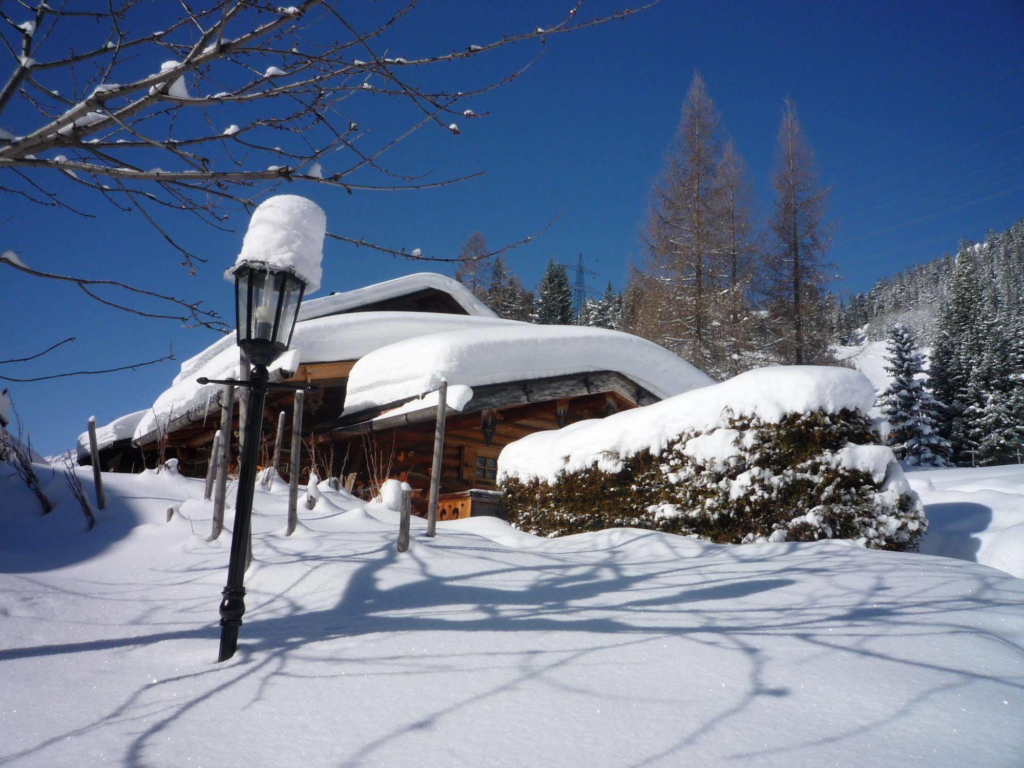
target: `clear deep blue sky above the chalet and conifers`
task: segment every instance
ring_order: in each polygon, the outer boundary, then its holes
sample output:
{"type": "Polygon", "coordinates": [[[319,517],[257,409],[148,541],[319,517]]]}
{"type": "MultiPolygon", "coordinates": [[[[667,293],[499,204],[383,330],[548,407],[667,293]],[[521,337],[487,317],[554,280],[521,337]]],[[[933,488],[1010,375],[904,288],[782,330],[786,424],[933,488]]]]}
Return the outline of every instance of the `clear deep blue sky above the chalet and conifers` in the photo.
{"type": "MultiPolygon", "coordinates": [[[[463,47],[548,25],[552,6],[426,3],[392,38],[389,55],[463,47]]],[[[591,12],[611,7],[596,3],[591,12]]],[[[423,131],[391,157],[394,167],[409,172],[484,170],[482,178],[433,191],[289,191],[321,203],[332,229],[425,252],[456,253],[477,229],[497,246],[560,215],[542,238],[509,256],[523,282],[535,283],[549,257],[574,261],[582,252],[600,273],[595,288],[607,280],[621,285],[629,260],[639,254],[647,190],[698,70],[746,161],[761,214],[770,210],[782,98],[795,99],[822,182],[833,189],[829,255],[841,275],[836,288],[861,290],[954,249],[963,238],[981,238],[1024,216],[1022,39],[1024,3],[1018,0],[665,0],[626,22],[551,39],[525,75],[467,104],[488,117],[464,123],[459,136],[423,131]]],[[[484,59],[474,65],[472,78],[500,76],[534,51],[527,45],[484,59]]],[[[383,135],[389,126],[374,129],[383,135]]],[[[241,217],[233,233],[201,229],[190,220],[175,224],[209,258],[188,278],[175,253],[140,220],[81,197],[81,188],[67,191],[98,217],[82,220],[2,198],[11,219],[0,224],[0,249],[12,248],[44,269],[202,297],[230,316],[230,286],[220,272],[241,244],[241,217]]],[[[344,291],[423,267],[329,243],[322,290],[344,291]]],[[[124,374],[9,385],[43,453],[72,445],[90,414],[102,423],[146,408],[180,360],[214,338],[204,330],[133,318],[88,301],[77,289],[12,271],[0,271],[0,291],[7,329],[0,356],[77,337],[38,365],[6,367],[7,375],[108,368],[160,356],[170,344],[178,357],[124,374]]]]}

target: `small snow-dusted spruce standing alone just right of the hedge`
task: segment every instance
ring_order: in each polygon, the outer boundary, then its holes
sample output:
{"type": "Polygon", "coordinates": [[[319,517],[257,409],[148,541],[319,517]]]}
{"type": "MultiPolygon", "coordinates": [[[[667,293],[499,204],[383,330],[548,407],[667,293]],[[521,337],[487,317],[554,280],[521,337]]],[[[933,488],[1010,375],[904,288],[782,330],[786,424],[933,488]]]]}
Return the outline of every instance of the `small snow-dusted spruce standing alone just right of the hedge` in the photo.
{"type": "Polygon", "coordinates": [[[938,433],[942,403],[925,387],[925,365],[918,341],[901,324],[889,338],[886,371],[892,382],[882,393],[882,415],[890,424],[888,444],[912,466],[947,466],[949,443],[938,433]]]}

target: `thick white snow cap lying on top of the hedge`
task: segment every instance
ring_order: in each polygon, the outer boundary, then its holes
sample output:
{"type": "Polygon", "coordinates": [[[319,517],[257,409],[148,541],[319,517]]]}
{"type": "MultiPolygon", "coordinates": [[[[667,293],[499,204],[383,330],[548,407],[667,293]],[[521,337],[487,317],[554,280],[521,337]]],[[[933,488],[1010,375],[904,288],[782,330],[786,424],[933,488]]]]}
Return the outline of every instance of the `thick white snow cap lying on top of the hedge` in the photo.
{"type": "Polygon", "coordinates": [[[724,427],[726,409],[733,416],[776,422],[786,414],[816,409],[829,414],[843,409],[867,414],[873,403],[871,382],[856,371],[818,366],[761,368],[652,406],[528,435],[505,446],[498,471],[502,477],[553,481],[562,470],[579,471],[595,462],[611,469],[617,457],[645,449],[657,453],[683,432],[724,427]]]}

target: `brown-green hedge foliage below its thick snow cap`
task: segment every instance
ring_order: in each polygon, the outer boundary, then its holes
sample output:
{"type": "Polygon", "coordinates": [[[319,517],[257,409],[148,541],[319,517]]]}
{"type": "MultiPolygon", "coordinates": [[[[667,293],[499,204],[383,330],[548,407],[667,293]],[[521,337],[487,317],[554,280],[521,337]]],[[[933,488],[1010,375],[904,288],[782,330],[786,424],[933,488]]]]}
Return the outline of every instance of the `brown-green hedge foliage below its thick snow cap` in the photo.
{"type": "Polygon", "coordinates": [[[731,418],[664,451],[559,473],[552,483],[507,477],[510,520],[541,536],[632,526],[719,544],[850,539],[912,550],[927,528],[888,449],[855,411],[731,418]]]}

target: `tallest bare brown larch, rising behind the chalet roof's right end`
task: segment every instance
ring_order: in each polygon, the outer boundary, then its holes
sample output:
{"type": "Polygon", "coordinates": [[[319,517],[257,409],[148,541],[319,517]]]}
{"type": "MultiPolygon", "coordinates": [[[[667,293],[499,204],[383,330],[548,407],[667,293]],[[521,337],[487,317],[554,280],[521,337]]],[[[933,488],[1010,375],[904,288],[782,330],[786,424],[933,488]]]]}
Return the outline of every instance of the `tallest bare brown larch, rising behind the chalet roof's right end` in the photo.
{"type": "Polygon", "coordinates": [[[715,338],[725,245],[719,122],[703,80],[694,74],[652,193],[647,258],[638,282],[644,300],[635,318],[638,333],[712,375],[722,361],[715,338]]]}

